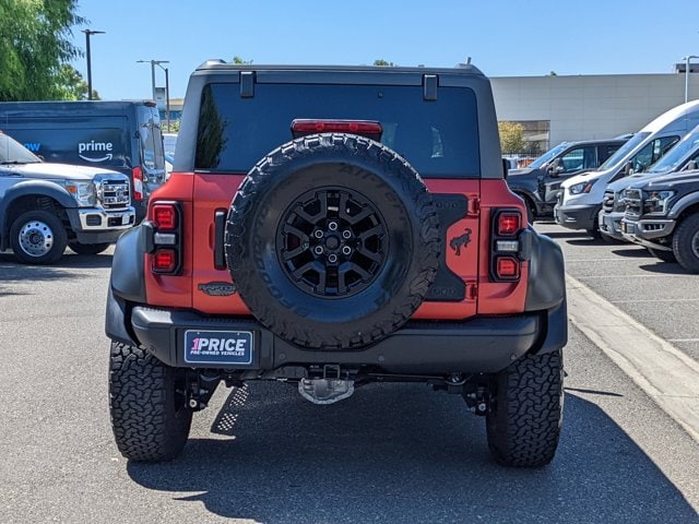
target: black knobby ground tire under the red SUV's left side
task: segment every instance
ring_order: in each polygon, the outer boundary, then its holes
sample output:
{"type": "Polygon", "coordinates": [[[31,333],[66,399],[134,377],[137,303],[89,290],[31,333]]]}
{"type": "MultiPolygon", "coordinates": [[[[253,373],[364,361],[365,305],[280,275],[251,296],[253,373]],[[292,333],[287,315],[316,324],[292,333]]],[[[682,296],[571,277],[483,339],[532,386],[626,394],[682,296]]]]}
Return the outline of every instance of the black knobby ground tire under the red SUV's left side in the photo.
{"type": "Polygon", "coordinates": [[[163,462],[182,451],[192,421],[182,376],[139,347],[111,343],[109,409],[117,448],[138,462],[163,462]]]}

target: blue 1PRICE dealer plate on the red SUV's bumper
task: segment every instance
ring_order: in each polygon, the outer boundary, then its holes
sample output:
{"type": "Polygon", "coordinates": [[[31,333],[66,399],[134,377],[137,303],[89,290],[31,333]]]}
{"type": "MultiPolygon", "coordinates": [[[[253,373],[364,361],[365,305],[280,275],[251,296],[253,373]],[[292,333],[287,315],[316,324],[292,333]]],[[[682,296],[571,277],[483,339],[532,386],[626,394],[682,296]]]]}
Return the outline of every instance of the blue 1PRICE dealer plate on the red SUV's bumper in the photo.
{"type": "Polygon", "coordinates": [[[250,366],[253,355],[251,331],[185,332],[185,361],[250,366]]]}

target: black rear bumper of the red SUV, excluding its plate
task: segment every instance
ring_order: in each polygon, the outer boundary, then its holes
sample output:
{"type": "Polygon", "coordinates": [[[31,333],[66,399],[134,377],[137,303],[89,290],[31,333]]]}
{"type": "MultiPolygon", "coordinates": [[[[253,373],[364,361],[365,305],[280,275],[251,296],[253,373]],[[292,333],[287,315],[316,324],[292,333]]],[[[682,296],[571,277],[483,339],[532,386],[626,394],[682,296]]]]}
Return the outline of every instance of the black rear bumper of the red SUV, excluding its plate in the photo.
{"type": "Polygon", "coordinates": [[[535,313],[478,317],[464,322],[411,321],[365,348],[311,350],[279,338],[250,318],[211,318],[194,311],[141,306],[127,308],[111,293],[107,300],[106,331],[110,338],[141,345],[158,360],[176,368],[262,372],[285,366],[340,365],[413,376],[497,372],[528,353],[561,348],[568,335],[564,300],[549,311],[535,313]],[[251,364],[186,362],[185,332],[188,330],[251,332],[251,364]]]}

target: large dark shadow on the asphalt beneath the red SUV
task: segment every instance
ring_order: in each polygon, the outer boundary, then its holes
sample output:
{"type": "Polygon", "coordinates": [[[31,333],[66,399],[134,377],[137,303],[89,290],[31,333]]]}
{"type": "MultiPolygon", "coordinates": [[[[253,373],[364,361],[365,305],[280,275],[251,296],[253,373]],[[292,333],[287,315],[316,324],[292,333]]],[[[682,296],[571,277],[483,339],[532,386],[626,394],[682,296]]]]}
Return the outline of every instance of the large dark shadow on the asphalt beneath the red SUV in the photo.
{"type": "Polygon", "coordinates": [[[424,385],[370,385],[315,406],[291,386],[256,383],[226,406],[232,438],[196,438],[177,461],[129,462],[128,474],[175,501],[272,524],[699,521],[643,451],[576,394],[556,458],[533,471],[491,462],[484,420],[424,385]]]}

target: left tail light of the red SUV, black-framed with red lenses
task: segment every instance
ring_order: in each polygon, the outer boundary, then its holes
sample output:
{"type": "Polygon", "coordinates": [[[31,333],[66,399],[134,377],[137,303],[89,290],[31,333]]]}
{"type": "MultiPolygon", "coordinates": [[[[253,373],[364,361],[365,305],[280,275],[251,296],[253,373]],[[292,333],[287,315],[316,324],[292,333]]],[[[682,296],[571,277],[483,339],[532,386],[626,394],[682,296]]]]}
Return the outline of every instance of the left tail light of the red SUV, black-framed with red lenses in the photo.
{"type": "Polygon", "coordinates": [[[182,213],[179,202],[151,202],[149,221],[151,271],[177,275],[182,267],[182,213]]]}

